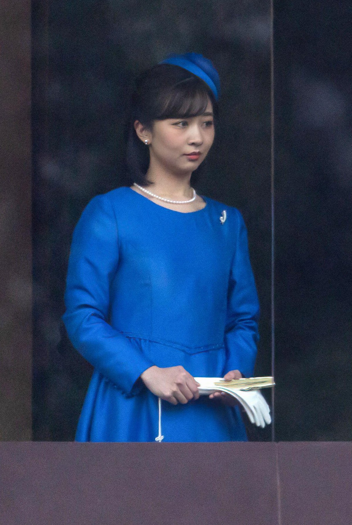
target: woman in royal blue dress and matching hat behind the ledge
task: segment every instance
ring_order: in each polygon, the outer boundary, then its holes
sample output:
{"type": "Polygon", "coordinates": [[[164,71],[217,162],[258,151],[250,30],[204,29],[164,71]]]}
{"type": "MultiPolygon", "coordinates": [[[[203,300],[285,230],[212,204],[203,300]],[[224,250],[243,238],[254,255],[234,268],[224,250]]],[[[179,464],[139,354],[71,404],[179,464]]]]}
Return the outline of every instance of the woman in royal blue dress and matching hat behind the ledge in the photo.
{"type": "Polygon", "coordinates": [[[253,375],[258,340],[242,215],[190,184],[219,91],[199,54],[144,71],[130,100],[131,185],[96,195],[76,224],[63,321],[94,366],[76,441],[154,442],[161,400],[164,442],[247,440],[240,407],[200,396],[194,379],[253,375]]]}

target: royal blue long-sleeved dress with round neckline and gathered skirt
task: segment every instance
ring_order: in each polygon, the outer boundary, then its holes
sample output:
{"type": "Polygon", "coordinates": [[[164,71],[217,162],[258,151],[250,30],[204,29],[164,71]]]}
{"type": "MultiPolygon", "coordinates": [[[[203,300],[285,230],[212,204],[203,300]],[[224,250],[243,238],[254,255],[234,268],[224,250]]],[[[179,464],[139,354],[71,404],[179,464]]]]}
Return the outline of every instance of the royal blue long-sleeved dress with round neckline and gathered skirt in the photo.
{"type": "MultiPolygon", "coordinates": [[[[204,208],[182,213],[122,186],[82,212],[62,317],[94,366],[76,441],[154,442],[158,397],[139,377],[152,365],[253,375],[259,305],[246,227],[236,208],[202,198],[204,208]]],[[[163,442],[247,440],[240,409],[209,396],[162,401],[162,434],[163,442]]]]}

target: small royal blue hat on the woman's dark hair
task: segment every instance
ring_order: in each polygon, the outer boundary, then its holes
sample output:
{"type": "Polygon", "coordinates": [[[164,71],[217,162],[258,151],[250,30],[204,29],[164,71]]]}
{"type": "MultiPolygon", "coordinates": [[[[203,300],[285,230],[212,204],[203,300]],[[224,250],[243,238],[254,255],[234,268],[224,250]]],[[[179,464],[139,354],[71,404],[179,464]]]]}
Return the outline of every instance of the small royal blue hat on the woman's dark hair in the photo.
{"type": "Polygon", "coordinates": [[[219,100],[220,77],[209,58],[205,58],[199,53],[184,53],[182,55],[171,53],[159,64],[173,64],[187,69],[193,75],[204,80],[214,93],[215,100],[219,100]]]}

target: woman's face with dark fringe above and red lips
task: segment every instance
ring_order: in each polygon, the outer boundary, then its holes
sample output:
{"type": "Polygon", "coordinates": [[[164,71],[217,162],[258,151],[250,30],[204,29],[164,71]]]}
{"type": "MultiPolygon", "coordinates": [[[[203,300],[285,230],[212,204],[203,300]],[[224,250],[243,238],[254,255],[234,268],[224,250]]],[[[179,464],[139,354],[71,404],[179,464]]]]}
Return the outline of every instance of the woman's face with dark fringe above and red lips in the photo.
{"type": "Polygon", "coordinates": [[[154,120],[149,133],[151,164],[161,165],[172,173],[190,173],[203,162],[215,136],[212,103],[198,117],[154,120]],[[200,152],[198,157],[189,153],[200,152]]]}

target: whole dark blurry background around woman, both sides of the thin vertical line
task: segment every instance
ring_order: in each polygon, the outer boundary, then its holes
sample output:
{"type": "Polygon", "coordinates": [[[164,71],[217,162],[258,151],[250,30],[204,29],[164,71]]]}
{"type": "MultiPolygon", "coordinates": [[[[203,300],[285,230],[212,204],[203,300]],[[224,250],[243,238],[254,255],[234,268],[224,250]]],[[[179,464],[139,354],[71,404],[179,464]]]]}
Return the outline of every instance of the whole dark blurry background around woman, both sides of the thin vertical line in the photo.
{"type": "MultiPolygon", "coordinates": [[[[276,440],[351,435],[343,10],[274,3],[276,440]]],[[[171,51],[202,53],[220,74],[220,126],[196,190],[244,215],[262,307],[255,372],[271,374],[270,3],[192,11],[185,2],[33,2],[35,440],[74,438],[91,366],[60,319],[71,234],[92,196],[123,184],[128,86],[171,51]]],[[[249,432],[271,439],[270,429],[249,432]]]]}

